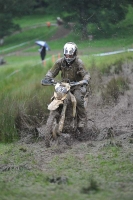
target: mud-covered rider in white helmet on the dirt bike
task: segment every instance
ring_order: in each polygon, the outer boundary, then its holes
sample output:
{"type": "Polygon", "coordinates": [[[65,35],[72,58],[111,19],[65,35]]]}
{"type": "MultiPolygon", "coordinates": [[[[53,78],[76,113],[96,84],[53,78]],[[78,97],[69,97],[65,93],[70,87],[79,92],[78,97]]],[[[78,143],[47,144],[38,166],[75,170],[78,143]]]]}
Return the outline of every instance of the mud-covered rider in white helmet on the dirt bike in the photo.
{"type": "MultiPolygon", "coordinates": [[[[67,42],[63,48],[64,56],[58,59],[54,66],[47,72],[45,79],[55,78],[61,71],[62,79],[69,79],[70,82],[86,80],[89,83],[90,74],[86,71],[82,60],[77,57],[78,48],[74,42],[67,42]]],[[[77,100],[78,129],[83,131],[86,123],[86,111],[84,107],[84,96],[86,88],[74,86],[71,89],[77,100]]]]}

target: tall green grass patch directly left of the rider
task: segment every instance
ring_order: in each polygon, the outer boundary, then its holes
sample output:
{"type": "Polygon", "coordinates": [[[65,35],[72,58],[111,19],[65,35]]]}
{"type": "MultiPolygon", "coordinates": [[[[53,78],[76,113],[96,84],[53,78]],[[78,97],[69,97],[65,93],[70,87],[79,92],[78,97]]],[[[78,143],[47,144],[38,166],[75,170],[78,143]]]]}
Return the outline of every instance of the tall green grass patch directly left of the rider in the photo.
{"type": "MultiPolygon", "coordinates": [[[[21,115],[29,115],[31,121],[42,122],[46,115],[46,105],[52,95],[50,88],[45,90],[40,79],[46,69],[40,65],[23,66],[23,69],[14,71],[14,68],[3,70],[0,84],[0,140],[11,142],[17,135],[15,120],[21,115]],[[16,73],[12,73],[16,72],[16,73]],[[10,76],[7,74],[10,73],[10,76]],[[14,85],[16,85],[14,87],[14,85]]],[[[1,71],[2,72],[2,71],[1,71]]],[[[42,77],[43,78],[43,77],[42,77]]]]}

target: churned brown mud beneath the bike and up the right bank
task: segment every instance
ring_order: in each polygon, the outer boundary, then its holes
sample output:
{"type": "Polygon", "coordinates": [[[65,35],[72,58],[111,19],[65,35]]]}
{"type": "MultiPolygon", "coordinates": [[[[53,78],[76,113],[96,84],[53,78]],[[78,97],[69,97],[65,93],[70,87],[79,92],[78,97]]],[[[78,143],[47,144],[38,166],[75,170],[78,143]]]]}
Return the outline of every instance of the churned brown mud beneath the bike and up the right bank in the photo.
{"type": "MultiPolygon", "coordinates": [[[[65,154],[73,150],[75,155],[81,155],[81,146],[89,148],[89,152],[97,153],[100,148],[111,144],[122,146],[126,151],[133,145],[133,62],[124,63],[120,76],[129,80],[129,89],[120,94],[117,102],[105,104],[98,92],[92,92],[88,97],[87,106],[87,129],[79,138],[62,134],[57,141],[52,142],[50,148],[45,147],[44,137],[35,142],[21,139],[20,143],[25,143],[34,149],[34,156],[38,163],[38,168],[47,170],[47,163],[59,154],[65,154]],[[64,136],[65,135],[65,136],[64,136]],[[79,152],[80,151],[80,152],[79,152]]],[[[106,87],[109,80],[117,77],[116,74],[102,75],[97,84],[106,87]],[[98,83],[99,82],[99,83],[98,83]]],[[[93,77],[92,77],[93,79],[93,77]]],[[[45,125],[40,127],[42,131],[45,125]]],[[[82,155],[81,155],[82,157],[82,155]]]]}

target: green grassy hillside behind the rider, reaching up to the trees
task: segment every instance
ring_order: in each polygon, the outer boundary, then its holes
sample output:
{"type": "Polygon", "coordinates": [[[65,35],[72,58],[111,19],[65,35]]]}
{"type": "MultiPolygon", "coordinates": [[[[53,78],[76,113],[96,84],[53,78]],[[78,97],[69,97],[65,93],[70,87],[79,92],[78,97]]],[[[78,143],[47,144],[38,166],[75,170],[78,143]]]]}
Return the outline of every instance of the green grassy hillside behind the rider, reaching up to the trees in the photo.
{"type": "MultiPolygon", "coordinates": [[[[131,21],[129,20],[132,16],[131,10],[132,8],[129,7],[129,13],[123,22],[123,26],[125,26],[125,24],[127,26],[131,25],[131,21]]],[[[65,42],[75,41],[78,45],[79,56],[83,59],[87,69],[94,68],[95,66],[101,73],[110,73],[112,66],[114,66],[114,72],[119,73],[122,63],[133,58],[132,52],[105,57],[92,55],[100,52],[118,50],[123,47],[132,47],[132,36],[130,36],[130,34],[127,36],[126,29],[126,38],[120,36],[108,40],[94,39],[92,41],[82,41],[79,34],[71,32],[64,38],[49,41],[50,37],[58,31],[57,26],[51,26],[50,28],[46,26],[38,27],[40,23],[46,23],[48,19],[52,22],[54,17],[47,16],[46,18],[42,18],[42,16],[40,16],[39,20],[39,16],[31,18],[28,16],[20,20],[16,19],[17,23],[22,26],[23,31],[5,38],[5,44],[0,47],[4,59],[6,60],[6,64],[0,68],[0,107],[2,111],[0,114],[0,119],[2,121],[0,125],[1,141],[9,142],[16,138],[15,120],[20,111],[24,110],[26,114],[30,112],[31,116],[39,115],[41,117],[44,117],[47,113],[46,105],[53,90],[52,88],[47,88],[47,90],[46,88],[42,89],[40,80],[52,66],[52,56],[54,55],[54,59],[57,59],[58,54],[62,54],[61,49],[65,42]],[[34,23],[37,28],[32,29],[34,23]],[[46,56],[45,67],[42,66],[40,61],[38,53],[39,47],[34,43],[37,38],[39,40],[45,39],[49,41],[48,43],[51,47],[51,51],[48,52],[46,56]],[[24,43],[24,45],[19,46],[22,43],[24,43]],[[29,107],[34,108],[32,112],[29,107]],[[44,110],[44,114],[42,114],[40,110],[44,110]]],[[[105,93],[104,91],[104,94],[105,93]]]]}

